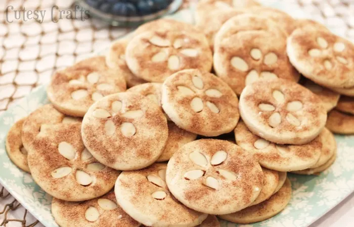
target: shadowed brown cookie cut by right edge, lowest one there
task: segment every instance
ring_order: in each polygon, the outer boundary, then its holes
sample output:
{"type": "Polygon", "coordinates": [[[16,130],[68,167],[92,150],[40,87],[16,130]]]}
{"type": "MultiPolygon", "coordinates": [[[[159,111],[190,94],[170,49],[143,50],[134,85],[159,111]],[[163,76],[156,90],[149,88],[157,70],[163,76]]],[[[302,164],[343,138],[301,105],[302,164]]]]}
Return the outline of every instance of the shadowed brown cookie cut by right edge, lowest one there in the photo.
{"type": "Polygon", "coordinates": [[[328,113],[326,127],[333,133],[354,134],[354,115],[333,109],[328,113]]]}

